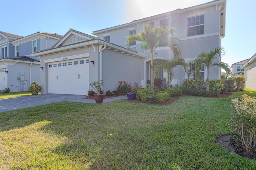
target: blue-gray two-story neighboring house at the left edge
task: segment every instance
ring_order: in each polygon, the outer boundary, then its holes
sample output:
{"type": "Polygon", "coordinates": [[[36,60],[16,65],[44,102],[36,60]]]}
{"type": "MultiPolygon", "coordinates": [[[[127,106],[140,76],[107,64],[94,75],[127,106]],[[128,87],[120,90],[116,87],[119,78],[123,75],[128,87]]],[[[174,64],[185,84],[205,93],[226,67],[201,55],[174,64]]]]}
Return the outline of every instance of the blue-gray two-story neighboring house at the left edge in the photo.
{"type": "Polygon", "coordinates": [[[40,59],[32,53],[52,47],[61,37],[44,32],[22,37],[0,31],[0,90],[29,91],[33,81],[40,83],[40,59]]]}

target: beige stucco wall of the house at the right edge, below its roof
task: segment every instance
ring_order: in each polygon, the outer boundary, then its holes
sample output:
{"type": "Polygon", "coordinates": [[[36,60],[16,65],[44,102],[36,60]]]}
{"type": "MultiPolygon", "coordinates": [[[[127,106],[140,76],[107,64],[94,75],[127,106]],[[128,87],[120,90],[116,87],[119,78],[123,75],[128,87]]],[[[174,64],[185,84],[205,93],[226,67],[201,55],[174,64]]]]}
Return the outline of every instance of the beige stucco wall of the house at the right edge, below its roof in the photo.
{"type": "Polygon", "coordinates": [[[245,87],[256,90],[256,60],[244,68],[245,87]]]}

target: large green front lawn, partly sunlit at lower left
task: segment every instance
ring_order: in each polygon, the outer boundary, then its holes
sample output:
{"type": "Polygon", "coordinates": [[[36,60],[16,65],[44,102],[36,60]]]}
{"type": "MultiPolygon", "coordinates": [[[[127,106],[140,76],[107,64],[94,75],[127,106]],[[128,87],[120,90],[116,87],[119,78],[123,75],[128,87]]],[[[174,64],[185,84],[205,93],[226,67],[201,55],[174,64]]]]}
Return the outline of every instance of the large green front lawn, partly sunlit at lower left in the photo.
{"type": "Polygon", "coordinates": [[[230,98],[183,96],[165,106],[60,102],[0,113],[0,169],[256,169],[215,142],[232,131],[230,111],[230,98]]]}

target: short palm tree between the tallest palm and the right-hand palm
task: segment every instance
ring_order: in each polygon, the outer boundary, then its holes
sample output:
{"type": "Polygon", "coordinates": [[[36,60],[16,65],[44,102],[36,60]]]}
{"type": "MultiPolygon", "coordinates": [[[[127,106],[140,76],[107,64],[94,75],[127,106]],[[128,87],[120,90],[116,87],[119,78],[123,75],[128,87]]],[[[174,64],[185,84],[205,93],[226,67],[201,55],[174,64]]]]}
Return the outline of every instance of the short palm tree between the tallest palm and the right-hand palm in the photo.
{"type": "Polygon", "coordinates": [[[160,68],[166,69],[167,75],[168,75],[168,81],[167,84],[169,84],[169,88],[171,86],[172,78],[174,77],[174,71],[172,70],[176,66],[183,66],[185,72],[188,72],[188,65],[184,61],[184,59],[181,58],[172,58],[172,59],[154,59],[154,68],[158,71],[160,68]]]}

